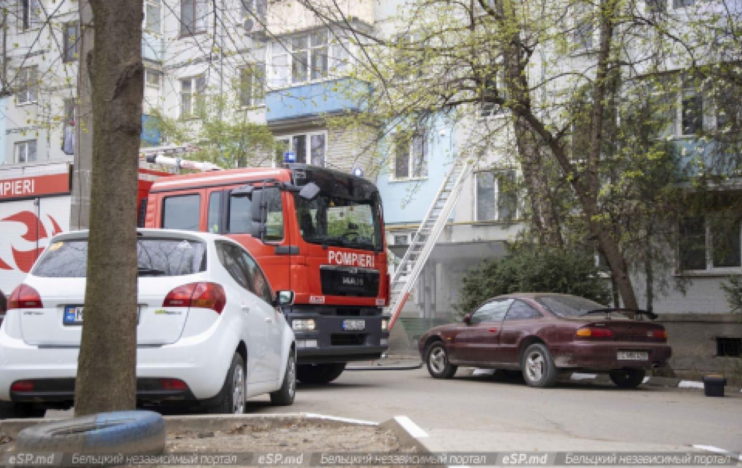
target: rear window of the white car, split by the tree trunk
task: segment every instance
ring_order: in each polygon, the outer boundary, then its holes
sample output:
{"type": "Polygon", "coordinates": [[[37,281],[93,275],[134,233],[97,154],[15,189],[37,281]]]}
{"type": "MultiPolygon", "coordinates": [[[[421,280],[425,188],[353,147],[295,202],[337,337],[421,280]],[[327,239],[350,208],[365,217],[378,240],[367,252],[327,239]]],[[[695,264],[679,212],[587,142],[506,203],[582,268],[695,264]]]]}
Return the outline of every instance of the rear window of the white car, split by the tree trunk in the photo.
{"type": "MultiPolygon", "coordinates": [[[[85,278],[88,240],[51,244],[31,274],[46,278],[85,278]]],[[[206,270],[206,244],[178,238],[140,238],[137,241],[139,276],[180,276],[206,270]]]]}

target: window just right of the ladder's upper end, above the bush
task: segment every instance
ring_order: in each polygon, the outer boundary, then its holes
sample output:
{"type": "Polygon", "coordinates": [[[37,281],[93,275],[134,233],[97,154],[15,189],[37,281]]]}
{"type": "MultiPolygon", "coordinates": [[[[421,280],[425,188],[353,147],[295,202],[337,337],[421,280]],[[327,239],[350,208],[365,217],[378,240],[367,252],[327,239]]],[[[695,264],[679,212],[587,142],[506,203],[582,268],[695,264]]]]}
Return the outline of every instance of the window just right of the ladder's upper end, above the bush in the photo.
{"type": "Polygon", "coordinates": [[[476,221],[509,221],[516,217],[514,171],[476,173],[476,221]]]}

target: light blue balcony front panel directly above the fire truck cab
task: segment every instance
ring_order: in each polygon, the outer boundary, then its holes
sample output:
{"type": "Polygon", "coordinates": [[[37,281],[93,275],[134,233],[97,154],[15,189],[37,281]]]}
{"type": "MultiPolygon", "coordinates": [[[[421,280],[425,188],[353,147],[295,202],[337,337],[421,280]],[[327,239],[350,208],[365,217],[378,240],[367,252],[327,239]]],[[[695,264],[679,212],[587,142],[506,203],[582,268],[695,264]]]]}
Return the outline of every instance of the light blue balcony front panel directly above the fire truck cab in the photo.
{"type": "Polygon", "coordinates": [[[340,78],[282,88],[266,93],[266,120],[278,123],[300,117],[360,111],[360,97],[368,85],[357,79],[340,78]]]}

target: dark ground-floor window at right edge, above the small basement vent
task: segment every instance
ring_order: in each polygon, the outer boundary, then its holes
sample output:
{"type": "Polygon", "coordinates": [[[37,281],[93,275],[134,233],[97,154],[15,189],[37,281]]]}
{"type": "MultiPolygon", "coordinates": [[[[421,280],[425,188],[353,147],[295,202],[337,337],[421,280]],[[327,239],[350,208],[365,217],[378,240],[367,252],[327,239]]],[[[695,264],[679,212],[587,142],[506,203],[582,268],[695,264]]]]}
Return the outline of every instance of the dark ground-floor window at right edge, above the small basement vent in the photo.
{"type": "Polygon", "coordinates": [[[680,223],[680,270],[714,270],[742,266],[739,215],[719,212],[680,223]]]}

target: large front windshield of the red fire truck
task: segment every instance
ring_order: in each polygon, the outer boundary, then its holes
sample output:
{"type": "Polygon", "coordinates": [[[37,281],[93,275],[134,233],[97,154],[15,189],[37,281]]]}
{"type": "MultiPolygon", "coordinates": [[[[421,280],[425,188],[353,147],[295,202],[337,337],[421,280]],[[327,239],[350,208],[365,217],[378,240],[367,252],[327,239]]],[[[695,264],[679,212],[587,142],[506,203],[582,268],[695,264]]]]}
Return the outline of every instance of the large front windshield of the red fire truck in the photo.
{"type": "Polygon", "coordinates": [[[313,200],[296,196],[301,237],[312,244],[381,249],[380,204],[376,198],[351,200],[320,194],[313,200]]]}

